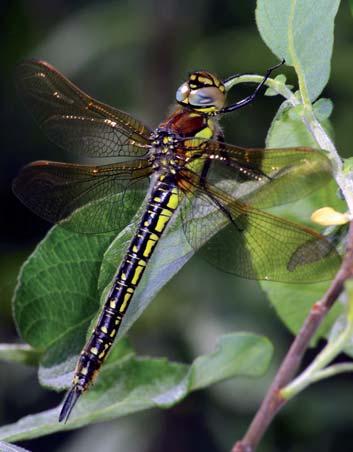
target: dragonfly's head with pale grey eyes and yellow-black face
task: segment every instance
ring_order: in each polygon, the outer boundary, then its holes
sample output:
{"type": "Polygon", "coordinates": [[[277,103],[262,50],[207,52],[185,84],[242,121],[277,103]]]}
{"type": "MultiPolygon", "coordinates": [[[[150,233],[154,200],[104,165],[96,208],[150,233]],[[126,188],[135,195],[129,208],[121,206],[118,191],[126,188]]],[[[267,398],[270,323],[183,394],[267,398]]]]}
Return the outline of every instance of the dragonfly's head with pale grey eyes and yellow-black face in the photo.
{"type": "Polygon", "coordinates": [[[222,81],[206,71],[192,72],[176,92],[179,104],[209,115],[223,108],[225,98],[222,81]]]}

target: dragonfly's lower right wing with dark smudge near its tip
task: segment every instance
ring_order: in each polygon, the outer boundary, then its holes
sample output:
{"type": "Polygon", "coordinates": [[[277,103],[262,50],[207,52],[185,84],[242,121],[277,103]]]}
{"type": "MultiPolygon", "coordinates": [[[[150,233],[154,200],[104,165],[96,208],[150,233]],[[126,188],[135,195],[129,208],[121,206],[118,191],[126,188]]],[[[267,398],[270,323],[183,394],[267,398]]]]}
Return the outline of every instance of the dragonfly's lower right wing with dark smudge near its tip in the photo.
{"type": "Polygon", "coordinates": [[[215,186],[181,174],[188,201],[182,206],[185,235],[205,259],[249,279],[314,282],[331,279],[340,257],[315,231],[237,201],[215,186]]]}

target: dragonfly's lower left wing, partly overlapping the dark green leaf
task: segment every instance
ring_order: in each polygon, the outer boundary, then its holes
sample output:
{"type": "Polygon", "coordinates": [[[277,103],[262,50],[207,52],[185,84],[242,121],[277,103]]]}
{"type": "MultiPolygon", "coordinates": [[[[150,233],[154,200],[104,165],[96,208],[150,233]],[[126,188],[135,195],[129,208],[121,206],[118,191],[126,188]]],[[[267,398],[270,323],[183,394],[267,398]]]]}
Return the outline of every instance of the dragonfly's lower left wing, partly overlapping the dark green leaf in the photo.
{"type": "Polygon", "coordinates": [[[13,191],[47,221],[101,233],[128,224],[145,197],[150,174],[145,160],[106,166],[38,161],[22,168],[13,191]]]}

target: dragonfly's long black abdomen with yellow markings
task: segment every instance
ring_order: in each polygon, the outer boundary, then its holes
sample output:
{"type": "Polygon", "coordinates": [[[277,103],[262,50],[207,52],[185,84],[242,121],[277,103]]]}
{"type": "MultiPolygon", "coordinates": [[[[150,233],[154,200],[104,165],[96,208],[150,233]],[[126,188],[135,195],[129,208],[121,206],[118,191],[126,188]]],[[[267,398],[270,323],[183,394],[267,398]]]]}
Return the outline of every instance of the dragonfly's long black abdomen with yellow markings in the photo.
{"type": "Polygon", "coordinates": [[[103,311],[81,352],[72,388],[61,411],[61,420],[68,418],[78,396],[88,388],[106,358],[146,265],[178,203],[175,181],[171,176],[161,175],[116,274],[103,311]]]}

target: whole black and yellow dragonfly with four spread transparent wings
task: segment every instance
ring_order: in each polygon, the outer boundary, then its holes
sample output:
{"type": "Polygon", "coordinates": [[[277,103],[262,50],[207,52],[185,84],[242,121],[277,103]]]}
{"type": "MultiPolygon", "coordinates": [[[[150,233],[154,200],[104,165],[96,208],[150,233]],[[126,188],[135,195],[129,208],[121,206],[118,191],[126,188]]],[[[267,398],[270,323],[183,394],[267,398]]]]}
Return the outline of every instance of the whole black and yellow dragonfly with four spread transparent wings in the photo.
{"type": "Polygon", "coordinates": [[[47,62],[18,66],[19,94],[47,137],[95,162],[30,163],[14,180],[15,195],[45,220],[81,233],[118,231],[144,206],[79,356],[59,421],[68,420],[97,376],[146,266],[176,217],[192,249],[226,272],[279,282],[333,277],[340,257],[327,238],[263,210],[328,183],[325,153],[234,146],[225,143],[219,125],[223,115],[252,103],[277,67],[230,105],[229,86],[240,74],[222,80],[207,71],[190,73],[176,92],[172,114],[152,130],[85,94],[47,62]]]}

